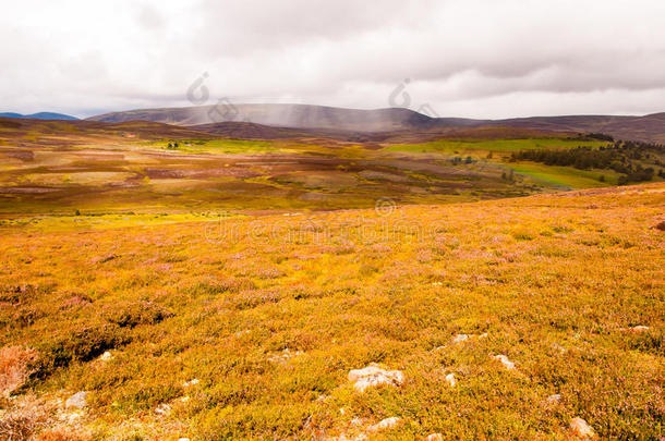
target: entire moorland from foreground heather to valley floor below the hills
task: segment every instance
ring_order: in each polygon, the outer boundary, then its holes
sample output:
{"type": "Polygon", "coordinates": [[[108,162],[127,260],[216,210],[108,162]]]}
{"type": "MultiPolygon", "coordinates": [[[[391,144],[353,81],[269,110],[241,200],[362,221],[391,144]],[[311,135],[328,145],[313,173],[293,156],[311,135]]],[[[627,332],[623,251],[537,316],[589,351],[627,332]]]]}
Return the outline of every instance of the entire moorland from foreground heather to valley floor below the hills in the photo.
{"type": "Polygon", "coordinates": [[[510,157],[570,134],[204,128],[0,120],[0,438],[662,437],[665,183],[510,157]]]}

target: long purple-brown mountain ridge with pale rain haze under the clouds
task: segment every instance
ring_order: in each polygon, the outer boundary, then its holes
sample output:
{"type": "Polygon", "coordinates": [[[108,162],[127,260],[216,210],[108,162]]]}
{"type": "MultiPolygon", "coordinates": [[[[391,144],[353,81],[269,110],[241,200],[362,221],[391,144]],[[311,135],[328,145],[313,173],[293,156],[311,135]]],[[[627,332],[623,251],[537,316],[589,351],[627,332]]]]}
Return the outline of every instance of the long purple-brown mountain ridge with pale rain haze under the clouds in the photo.
{"type": "MultiPolygon", "coordinates": [[[[196,126],[223,122],[245,122],[286,128],[382,133],[416,131],[435,135],[437,132],[473,127],[517,127],[546,132],[605,133],[620,139],[634,139],[665,144],[665,113],[645,117],[568,115],[531,117],[507,120],[473,120],[463,118],[431,118],[409,109],[376,110],[341,109],[310,105],[220,105],[184,108],[142,109],[106,113],[89,118],[93,121],[124,122],[154,121],[167,124],[196,126]]],[[[201,127],[200,127],[201,128],[201,127]]],[[[204,127],[205,131],[225,132],[258,127],[204,127]]],[[[261,128],[265,131],[265,128],[261,128]]],[[[292,135],[293,133],[289,133],[292,135]]]]}

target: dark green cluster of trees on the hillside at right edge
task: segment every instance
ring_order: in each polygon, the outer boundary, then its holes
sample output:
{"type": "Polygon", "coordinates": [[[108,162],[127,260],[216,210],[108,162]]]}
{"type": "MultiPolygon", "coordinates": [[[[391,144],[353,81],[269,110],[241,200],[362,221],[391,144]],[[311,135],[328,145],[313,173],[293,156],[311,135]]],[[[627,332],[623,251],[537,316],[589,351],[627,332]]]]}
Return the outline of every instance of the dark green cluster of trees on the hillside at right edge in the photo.
{"type": "Polygon", "coordinates": [[[614,170],[624,174],[618,181],[619,185],[624,185],[629,182],[651,181],[653,179],[656,173],[654,167],[644,167],[643,162],[648,162],[649,166],[661,167],[658,175],[665,177],[665,172],[662,169],[665,163],[661,160],[663,155],[665,155],[665,146],[660,144],[617,140],[600,148],[577,147],[567,150],[516,151],[510,159],[512,161],[542,162],[547,166],[575,167],[580,170],[614,170]]]}

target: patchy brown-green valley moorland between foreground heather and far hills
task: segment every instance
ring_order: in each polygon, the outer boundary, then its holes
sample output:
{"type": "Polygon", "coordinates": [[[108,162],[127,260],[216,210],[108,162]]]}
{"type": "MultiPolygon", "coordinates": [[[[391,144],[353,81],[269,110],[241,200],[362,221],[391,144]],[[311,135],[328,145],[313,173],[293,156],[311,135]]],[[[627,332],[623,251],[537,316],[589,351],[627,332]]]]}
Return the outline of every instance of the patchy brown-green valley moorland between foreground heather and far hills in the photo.
{"type": "Polygon", "coordinates": [[[4,119],[0,213],[330,210],[373,207],[387,195],[399,204],[447,204],[617,181],[613,172],[506,157],[525,149],[603,145],[565,134],[469,130],[434,142],[425,136],[419,144],[396,143],[403,133],[361,142],[349,134],[297,134],[229,139],[149,122],[4,119]]]}

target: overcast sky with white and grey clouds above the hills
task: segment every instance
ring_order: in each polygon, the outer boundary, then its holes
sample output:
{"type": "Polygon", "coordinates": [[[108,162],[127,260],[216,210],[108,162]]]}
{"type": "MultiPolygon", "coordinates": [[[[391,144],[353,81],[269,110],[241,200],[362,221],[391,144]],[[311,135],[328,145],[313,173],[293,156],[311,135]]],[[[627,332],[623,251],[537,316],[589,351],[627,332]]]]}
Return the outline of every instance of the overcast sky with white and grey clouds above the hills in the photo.
{"type": "Polygon", "coordinates": [[[210,105],[646,114],[665,111],[665,1],[22,0],[0,60],[0,111],[22,113],[189,106],[207,73],[210,105]]]}

